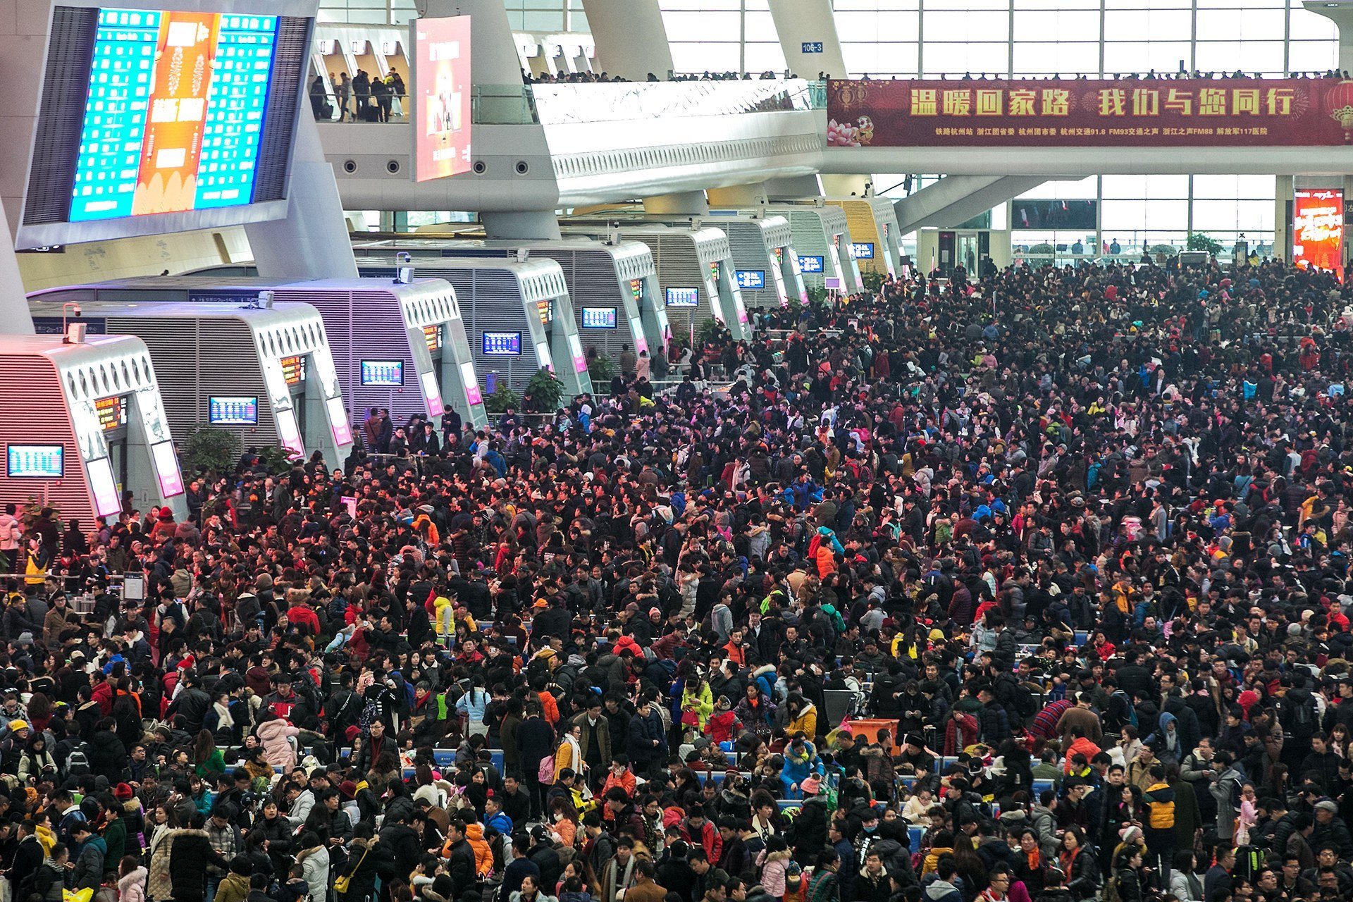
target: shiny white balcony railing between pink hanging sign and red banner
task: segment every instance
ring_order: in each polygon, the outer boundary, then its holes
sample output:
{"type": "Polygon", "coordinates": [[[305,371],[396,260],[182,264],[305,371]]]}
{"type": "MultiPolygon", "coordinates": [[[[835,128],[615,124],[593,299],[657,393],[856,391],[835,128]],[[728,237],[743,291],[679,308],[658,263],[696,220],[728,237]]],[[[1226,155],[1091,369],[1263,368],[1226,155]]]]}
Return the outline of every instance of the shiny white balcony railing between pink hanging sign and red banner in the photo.
{"type": "Polygon", "coordinates": [[[475,85],[476,124],[570,124],[821,110],[821,81],[601,81],[475,85]]]}

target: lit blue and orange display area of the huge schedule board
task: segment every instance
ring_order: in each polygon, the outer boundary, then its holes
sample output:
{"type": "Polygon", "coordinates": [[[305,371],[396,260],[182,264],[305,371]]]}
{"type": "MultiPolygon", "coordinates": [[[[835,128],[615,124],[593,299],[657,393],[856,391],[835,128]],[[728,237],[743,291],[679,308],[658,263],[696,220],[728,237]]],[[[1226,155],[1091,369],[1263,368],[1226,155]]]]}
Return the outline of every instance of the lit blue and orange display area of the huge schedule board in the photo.
{"type": "Polygon", "coordinates": [[[70,222],[252,203],[277,20],[100,9],[70,222]]]}

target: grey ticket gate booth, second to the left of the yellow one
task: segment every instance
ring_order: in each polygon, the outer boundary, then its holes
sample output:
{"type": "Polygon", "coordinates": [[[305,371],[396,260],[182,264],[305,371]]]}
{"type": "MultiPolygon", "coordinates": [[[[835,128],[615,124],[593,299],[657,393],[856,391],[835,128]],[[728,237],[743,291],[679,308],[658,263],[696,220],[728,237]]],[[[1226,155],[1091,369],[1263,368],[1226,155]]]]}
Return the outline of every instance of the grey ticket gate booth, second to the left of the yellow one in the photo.
{"type": "Polygon", "coordinates": [[[787,219],[710,211],[706,222],[728,235],[733,280],[744,304],[773,308],[787,307],[792,299],[808,303],[787,219]]]}

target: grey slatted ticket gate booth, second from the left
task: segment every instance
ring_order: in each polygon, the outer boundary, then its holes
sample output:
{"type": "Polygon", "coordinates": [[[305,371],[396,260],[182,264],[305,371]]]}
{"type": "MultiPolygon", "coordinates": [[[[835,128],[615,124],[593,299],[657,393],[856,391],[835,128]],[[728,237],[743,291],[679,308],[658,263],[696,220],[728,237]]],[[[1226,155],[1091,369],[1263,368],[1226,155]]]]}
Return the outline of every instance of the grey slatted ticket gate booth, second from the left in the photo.
{"type": "Polygon", "coordinates": [[[215,426],[244,448],[280,445],[295,458],[318,450],[341,467],[352,425],[319,311],[253,306],[257,296],[183,302],[169,293],[157,299],[154,287],[129,280],[39,292],[30,308],[37,329],[60,329],[60,304],[78,302],[91,331],[141,338],[176,433],[215,426]]]}

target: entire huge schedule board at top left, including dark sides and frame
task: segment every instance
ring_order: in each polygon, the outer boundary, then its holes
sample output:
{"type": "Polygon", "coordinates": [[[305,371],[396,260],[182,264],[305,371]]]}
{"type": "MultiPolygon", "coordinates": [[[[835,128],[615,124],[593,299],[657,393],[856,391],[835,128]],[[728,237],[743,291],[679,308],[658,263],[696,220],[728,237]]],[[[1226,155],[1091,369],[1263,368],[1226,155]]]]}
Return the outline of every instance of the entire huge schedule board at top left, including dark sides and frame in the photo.
{"type": "Polygon", "coordinates": [[[20,246],[285,215],[314,22],[287,15],[307,12],[296,0],[231,5],[58,0],[20,246]]]}

